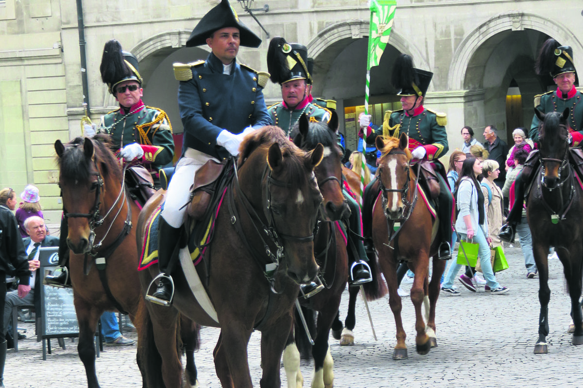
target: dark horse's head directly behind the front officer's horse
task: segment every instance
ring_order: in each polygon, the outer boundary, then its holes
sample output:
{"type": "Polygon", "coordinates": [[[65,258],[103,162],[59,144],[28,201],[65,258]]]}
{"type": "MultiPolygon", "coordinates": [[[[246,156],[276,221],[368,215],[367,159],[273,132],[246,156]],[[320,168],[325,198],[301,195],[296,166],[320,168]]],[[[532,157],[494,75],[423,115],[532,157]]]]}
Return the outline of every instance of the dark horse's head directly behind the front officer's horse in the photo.
{"type": "MultiPolygon", "coordinates": [[[[324,146],[324,158],[314,169],[318,187],[324,197],[324,212],[329,219],[336,221],[349,211],[342,194],[342,149],[337,140],[338,115],[332,111],[328,124],[309,122],[302,114],[297,123],[299,132],[294,136],[294,144],[304,151],[324,146]]],[[[294,130],[295,131],[295,130],[294,130]]],[[[292,131],[292,132],[294,132],[292,131]]]]}

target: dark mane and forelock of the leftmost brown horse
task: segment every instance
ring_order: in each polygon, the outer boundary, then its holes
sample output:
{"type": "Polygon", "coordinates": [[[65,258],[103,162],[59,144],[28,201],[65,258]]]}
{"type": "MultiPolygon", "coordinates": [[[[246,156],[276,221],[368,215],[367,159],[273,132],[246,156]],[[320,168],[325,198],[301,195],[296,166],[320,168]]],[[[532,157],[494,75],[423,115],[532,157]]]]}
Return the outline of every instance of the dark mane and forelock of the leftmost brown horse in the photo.
{"type": "Polygon", "coordinates": [[[83,144],[85,140],[93,143],[94,159],[101,165],[101,173],[104,175],[113,175],[115,179],[121,182],[121,170],[113,154],[111,148],[111,137],[106,134],[97,134],[93,138],[76,137],[69,143],[64,144],[65,151],[61,158],[57,156],[57,165],[61,171],[61,179],[65,183],[75,181],[86,182],[89,180],[89,172],[91,170],[91,159],[85,157],[85,148],[83,144]]]}

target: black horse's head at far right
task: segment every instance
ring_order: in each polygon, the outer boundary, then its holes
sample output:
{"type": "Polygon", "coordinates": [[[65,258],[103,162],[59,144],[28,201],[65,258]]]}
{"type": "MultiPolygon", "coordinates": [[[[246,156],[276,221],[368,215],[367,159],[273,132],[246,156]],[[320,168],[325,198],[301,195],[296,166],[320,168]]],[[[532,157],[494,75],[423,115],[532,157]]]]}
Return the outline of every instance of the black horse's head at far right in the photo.
{"type": "Polygon", "coordinates": [[[540,120],[539,147],[542,162],[542,183],[549,189],[557,188],[561,182],[561,173],[568,164],[570,136],[567,119],[569,108],[563,113],[542,113],[535,108],[535,115],[540,120]]]}

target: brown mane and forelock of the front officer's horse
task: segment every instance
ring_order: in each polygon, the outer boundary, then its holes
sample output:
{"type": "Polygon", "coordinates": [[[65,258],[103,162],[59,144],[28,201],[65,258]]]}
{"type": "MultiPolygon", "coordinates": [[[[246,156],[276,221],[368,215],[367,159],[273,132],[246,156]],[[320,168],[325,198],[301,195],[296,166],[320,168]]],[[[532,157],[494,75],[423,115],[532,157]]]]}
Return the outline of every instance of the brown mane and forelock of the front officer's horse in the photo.
{"type": "Polygon", "coordinates": [[[255,149],[262,148],[267,151],[273,143],[278,143],[282,150],[283,159],[286,161],[285,165],[287,166],[287,179],[288,183],[291,184],[291,189],[304,186],[307,180],[304,170],[307,152],[291,143],[280,127],[266,126],[247,135],[239,147],[238,168],[243,166],[255,149]]]}

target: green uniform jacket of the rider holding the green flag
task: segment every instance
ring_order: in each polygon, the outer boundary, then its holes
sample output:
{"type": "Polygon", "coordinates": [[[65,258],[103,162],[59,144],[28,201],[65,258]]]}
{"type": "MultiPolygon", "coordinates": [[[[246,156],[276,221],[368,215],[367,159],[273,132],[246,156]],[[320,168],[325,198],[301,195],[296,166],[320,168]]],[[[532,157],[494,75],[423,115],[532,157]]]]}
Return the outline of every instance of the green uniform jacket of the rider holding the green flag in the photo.
{"type": "Polygon", "coordinates": [[[409,136],[409,149],[413,151],[422,145],[427,151],[427,159],[433,160],[445,155],[449,150],[445,124],[447,124],[445,113],[433,112],[423,106],[416,109],[415,116],[406,115],[403,109],[387,111],[382,126],[367,136],[366,141],[368,144],[374,144],[375,138],[382,134],[399,137],[405,132],[409,136]]]}

